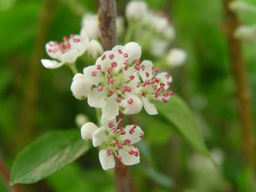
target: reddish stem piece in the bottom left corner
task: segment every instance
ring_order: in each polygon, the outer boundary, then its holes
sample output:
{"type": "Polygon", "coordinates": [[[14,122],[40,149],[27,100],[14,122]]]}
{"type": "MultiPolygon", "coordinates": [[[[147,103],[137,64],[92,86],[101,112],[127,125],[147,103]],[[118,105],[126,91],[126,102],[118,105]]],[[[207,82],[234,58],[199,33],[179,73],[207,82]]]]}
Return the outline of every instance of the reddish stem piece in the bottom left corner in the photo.
{"type": "Polygon", "coordinates": [[[0,174],[2,175],[4,181],[6,182],[6,186],[8,188],[12,189],[14,192],[23,192],[23,189],[19,184],[15,184],[12,187],[10,187],[10,171],[6,167],[4,160],[2,157],[0,157],[0,174]]]}

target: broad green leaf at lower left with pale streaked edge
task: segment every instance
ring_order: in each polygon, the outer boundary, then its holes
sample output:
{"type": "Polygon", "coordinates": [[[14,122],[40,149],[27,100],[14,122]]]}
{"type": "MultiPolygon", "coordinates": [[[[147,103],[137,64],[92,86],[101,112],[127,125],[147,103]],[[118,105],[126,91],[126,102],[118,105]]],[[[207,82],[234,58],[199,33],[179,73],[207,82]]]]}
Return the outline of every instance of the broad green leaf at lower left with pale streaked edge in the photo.
{"type": "Polygon", "coordinates": [[[11,184],[31,184],[56,172],[90,148],[77,130],[52,131],[36,139],[15,159],[11,184]]]}

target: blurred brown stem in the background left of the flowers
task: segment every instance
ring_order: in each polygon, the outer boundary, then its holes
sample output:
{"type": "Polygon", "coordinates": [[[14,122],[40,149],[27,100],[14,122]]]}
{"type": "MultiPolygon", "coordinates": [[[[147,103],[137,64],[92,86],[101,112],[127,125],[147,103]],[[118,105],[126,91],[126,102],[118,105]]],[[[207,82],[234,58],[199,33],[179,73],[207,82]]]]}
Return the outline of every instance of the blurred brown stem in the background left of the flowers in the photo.
{"type": "Polygon", "coordinates": [[[52,8],[51,0],[45,0],[38,18],[38,33],[35,42],[35,51],[31,57],[31,67],[28,72],[28,79],[25,89],[25,95],[22,108],[20,109],[19,129],[22,130],[19,145],[22,146],[28,142],[33,135],[34,116],[36,110],[36,101],[38,99],[38,84],[42,72],[41,58],[44,56],[44,44],[47,41],[47,35],[51,22],[52,8]]]}

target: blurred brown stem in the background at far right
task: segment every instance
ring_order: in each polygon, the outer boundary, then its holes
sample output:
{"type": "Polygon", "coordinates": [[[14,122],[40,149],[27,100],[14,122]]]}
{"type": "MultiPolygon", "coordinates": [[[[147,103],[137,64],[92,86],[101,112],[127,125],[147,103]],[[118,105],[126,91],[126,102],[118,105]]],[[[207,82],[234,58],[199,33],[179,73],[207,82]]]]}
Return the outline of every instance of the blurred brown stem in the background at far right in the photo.
{"type": "Polygon", "coordinates": [[[237,85],[238,108],[243,134],[243,148],[246,166],[253,170],[254,159],[254,139],[253,139],[253,119],[252,119],[252,102],[250,88],[247,83],[246,67],[242,54],[241,42],[234,37],[234,31],[239,26],[239,20],[236,13],[228,8],[232,0],[223,0],[225,12],[225,29],[227,32],[228,48],[230,51],[230,60],[233,70],[234,79],[237,85]]]}

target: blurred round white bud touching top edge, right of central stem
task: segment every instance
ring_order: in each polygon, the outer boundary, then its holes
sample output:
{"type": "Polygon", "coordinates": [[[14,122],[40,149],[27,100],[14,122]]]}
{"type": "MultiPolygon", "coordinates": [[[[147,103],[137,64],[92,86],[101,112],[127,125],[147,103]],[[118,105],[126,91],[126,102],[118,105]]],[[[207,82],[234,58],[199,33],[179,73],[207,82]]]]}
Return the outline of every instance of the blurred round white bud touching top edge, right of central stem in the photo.
{"type": "Polygon", "coordinates": [[[147,3],[143,1],[130,1],[125,8],[125,16],[131,20],[141,20],[147,14],[147,3]]]}

